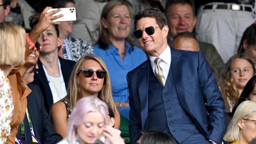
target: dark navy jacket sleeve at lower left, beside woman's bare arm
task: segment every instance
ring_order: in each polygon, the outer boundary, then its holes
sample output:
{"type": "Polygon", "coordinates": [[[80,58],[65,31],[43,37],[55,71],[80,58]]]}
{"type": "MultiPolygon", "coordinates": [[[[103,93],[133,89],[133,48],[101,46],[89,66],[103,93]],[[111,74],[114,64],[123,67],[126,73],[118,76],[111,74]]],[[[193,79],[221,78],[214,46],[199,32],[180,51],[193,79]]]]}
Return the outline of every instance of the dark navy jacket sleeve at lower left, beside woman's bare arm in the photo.
{"type": "Polygon", "coordinates": [[[43,138],[42,138],[42,143],[43,144],[56,144],[63,138],[61,135],[55,132],[54,127],[52,126],[50,117],[48,116],[48,113],[46,112],[46,108],[44,105],[44,99],[41,91],[37,87],[39,91],[39,96],[41,99],[41,107],[42,107],[42,118],[43,118],[43,138]]]}

